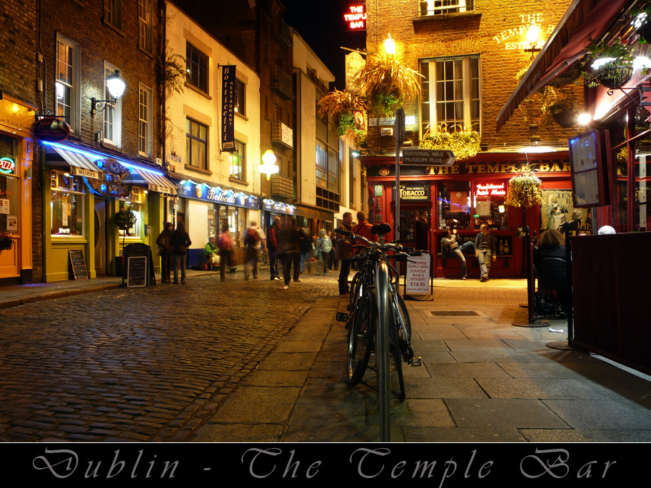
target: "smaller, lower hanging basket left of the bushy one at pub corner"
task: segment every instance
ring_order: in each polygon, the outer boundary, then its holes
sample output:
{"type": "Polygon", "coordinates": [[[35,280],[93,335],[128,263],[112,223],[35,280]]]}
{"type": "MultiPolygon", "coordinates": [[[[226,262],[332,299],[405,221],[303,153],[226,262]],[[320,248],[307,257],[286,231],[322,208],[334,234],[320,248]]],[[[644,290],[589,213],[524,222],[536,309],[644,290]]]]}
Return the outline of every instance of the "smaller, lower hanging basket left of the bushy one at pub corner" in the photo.
{"type": "MultiPolygon", "coordinates": [[[[365,113],[366,101],[363,96],[353,95],[348,91],[333,90],[328,92],[318,103],[318,116],[329,116],[338,136],[345,136],[358,148],[366,141],[366,131],[355,123],[354,111],[365,113]]],[[[365,127],[365,123],[363,124],[365,127]]]]}

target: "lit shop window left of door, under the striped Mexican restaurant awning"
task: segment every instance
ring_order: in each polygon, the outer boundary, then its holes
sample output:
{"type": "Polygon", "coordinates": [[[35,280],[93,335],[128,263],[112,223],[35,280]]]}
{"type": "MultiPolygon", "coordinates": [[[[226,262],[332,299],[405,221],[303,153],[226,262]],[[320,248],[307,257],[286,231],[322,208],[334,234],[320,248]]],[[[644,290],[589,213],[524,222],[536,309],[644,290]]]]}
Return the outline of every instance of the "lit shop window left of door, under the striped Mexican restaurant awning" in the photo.
{"type": "Polygon", "coordinates": [[[83,235],[84,181],[62,171],[50,173],[50,221],[52,235],[83,235]]]}

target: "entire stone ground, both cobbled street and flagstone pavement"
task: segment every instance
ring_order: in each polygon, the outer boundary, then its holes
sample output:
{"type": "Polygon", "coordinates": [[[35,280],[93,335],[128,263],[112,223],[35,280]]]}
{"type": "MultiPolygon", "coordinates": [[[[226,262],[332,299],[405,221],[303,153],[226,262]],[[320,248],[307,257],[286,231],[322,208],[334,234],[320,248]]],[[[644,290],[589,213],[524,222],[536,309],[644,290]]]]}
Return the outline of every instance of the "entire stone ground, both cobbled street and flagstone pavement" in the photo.
{"type": "MultiPolygon", "coordinates": [[[[334,317],[348,298],[335,295],[335,273],[290,290],[238,273],[226,291],[206,274],[188,272],[188,288],[173,295],[173,285],[118,290],[115,277],[0,288],[0,440],[379,441],[373,372],[366,385],[345,383],[345,329],[334,317]],[[218,309],[220,327],[202,325],[216,309],[198,307],[214,290],[256,310],[255,327],[244,329],[228,307],[218,309]],[[121,308],[136,296],[161,310],[143,318],[133,303],[121,308]],[[73,303],[89,310],[71,330],[59,315],[73,303]],[[128,327],[89,319],[111,308],[128,327]],[[192,317],[188,328],[158,327],[156,313],[175,310],[192,317]],[[63,332],[73,339],[53,340],[63,332]],[[229,334],[231,345],[206,342],[229,334]],[[75,355],[79,369],[66,370],[75,355]],[[23,384],[26,370],[34,385],[23,384]]],[[[524,280],[434,283],[433,300],[406,302],[423,366],[403,368],[407,398],[392,401],[392,441],[651,442],[651,378],[547,347],[567,339],[563,320],[514,326],[526,322],[524,280]]]]}

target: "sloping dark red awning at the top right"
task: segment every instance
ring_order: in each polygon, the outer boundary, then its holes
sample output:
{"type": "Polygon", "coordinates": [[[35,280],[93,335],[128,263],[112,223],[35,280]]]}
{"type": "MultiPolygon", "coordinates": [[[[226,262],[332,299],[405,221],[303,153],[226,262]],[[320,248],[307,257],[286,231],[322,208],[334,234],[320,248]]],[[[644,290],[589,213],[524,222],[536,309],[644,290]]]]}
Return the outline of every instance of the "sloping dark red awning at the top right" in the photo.
{"type": "Polygon", "coordinates": [[[574,0],[500,111],[497,130],[525,98],[585,55],[590,39],[599,39],[631,0],[574,0]]]}

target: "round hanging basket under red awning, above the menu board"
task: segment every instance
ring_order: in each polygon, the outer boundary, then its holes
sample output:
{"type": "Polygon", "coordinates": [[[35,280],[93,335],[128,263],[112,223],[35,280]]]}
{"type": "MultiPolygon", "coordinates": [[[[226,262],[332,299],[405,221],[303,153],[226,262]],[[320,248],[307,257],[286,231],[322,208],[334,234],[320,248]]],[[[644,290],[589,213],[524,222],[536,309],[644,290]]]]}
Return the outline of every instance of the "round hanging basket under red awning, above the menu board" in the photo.
{"type": "Polygon", "coordinates": [[[587,46],[592,54],[592,67],[583,72],[583,81],[591,88],[602,84],[606,88],[622,88],[633,76],[633,56],[618,39],[612,44],[593,41],[587,46]]]}

